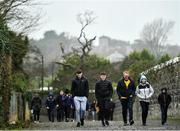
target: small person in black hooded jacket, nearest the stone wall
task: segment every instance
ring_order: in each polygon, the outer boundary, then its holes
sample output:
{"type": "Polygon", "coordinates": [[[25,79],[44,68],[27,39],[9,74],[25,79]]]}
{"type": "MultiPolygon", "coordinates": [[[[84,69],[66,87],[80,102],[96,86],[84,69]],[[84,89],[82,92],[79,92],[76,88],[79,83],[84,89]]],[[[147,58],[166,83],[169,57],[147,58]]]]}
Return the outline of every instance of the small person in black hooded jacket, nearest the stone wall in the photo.
{"type": "Polygon", "coordinates": [[[158,103],[161,108],[161,122],[162,125],[166,124],[168,106],[171,103],[171,96],[167,93],[166,88],[161,89],[161,94],[158,96],[158,103]]]}

